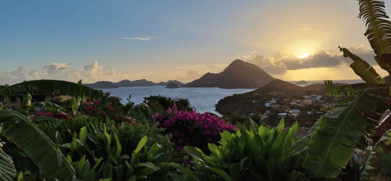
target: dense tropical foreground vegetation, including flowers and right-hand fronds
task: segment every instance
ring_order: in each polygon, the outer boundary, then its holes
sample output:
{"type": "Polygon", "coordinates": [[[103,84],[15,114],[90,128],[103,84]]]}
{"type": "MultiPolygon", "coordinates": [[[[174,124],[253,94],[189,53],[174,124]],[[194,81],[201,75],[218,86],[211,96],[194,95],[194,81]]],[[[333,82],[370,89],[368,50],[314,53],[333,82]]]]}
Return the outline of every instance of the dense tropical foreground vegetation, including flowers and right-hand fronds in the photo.
{"type": "MultiPolygon", "coordinates": [[[[360,0],[359,16],[368,26],[365,35],[377,54],[376,61],[391,73],[391,23],[381,19],[388,18],[381,7],[382,1],[360,0]]],[[[285,118],[273,127],[278,109],[267,108],[270,125],[262,122],[259,114],[248,118],[227,113],[225,122],[192,111],[187,99],[150,96],[134,106],[129,96],[122,105],[119,98],[82,86],[81,81],[39,80],[1,86],[2,102],[4,97],[24,94],[24,110],[13,111],[0,104],[0,178],[389,180],[391,129],[373,150],[368,150],[368,140],[382,126],[380,117],[391,109],[391,84],[385,84],[373,68],[346,48],[341,51],[355,61],[351,67],[367,83],[335,86],[325,81],[328,95],[351,97],[314,121],[308,135],[301,138],[294,138],[299,123],[289,117],[286,121],[293,123],[284,133],[285,118]],[[35,91],[76,98],[29,104],[35,91]],[[35,111],[37,107],[42,110],[35,111]]],[[[262,101],[269,95],[251,96],[262,101]]],[[[276,101],[286,104],[283,95],[279,96],[276,101]]],[[[312,120],[318,117],[312,116],[312,120]]]]}

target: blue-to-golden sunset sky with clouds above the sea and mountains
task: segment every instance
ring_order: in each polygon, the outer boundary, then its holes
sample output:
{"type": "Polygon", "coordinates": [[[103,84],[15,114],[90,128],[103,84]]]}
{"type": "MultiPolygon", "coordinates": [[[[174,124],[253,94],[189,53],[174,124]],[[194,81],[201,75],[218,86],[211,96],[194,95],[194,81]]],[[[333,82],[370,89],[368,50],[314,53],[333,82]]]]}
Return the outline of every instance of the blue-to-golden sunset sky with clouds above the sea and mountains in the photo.
{"type": "Polygon", "coordinates": [[[358,14],[357,0],[0,1],[0,84],[191,82],[235,59],[283,81],[360,79],[338,46],[384,77],[358,14]]]}

